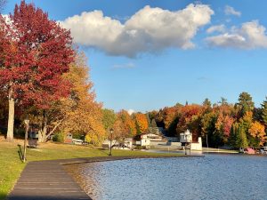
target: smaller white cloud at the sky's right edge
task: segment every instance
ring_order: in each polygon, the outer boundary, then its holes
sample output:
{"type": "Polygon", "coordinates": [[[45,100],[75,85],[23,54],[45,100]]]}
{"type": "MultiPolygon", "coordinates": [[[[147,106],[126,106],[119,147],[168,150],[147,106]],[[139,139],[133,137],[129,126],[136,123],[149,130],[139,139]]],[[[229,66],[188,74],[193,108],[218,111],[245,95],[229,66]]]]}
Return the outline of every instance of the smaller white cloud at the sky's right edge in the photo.
{"type": "Polygon", "coordinates": [[[218,36],[206,38],[211,46],[240,49],[267,48],[265,29],[257,20],[243,23],[240,28],[232,27],[230,31],[218,36]]]}

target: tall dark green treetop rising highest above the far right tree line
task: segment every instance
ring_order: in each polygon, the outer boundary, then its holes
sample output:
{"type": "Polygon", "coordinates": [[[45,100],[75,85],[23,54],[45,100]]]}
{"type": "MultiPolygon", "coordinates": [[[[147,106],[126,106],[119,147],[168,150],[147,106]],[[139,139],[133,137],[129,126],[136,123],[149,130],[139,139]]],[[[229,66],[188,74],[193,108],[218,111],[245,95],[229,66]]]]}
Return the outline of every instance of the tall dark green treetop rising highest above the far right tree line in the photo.
{"type": "Polygon", "coordinates": [[[254,102],[252,101],[252,97],[247,92],[242,92],[239,94],[239,102],[237,105],[239,106],[240,116],[244,116],[246,112],[253,111],[254,109],[254,102]]]}

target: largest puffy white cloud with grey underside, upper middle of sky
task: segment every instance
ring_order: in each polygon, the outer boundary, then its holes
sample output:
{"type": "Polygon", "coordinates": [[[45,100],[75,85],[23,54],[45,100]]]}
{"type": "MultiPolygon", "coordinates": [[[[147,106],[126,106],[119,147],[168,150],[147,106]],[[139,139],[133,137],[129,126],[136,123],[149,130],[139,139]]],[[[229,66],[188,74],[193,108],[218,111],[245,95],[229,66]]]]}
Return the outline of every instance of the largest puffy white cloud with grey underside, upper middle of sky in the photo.
{"type": "Polygon", "coordinates": [[[206,4],[189,4],[171,12],[149,5],[125,23],[104,16],[101,11],[83,12],[60,21],[71,30],[74,41],[101,49],[110,55],[134,57],[140,52],[160,52],[168,47],[189,49],[198,28],[211,20],[214,11],[206,4]]]}

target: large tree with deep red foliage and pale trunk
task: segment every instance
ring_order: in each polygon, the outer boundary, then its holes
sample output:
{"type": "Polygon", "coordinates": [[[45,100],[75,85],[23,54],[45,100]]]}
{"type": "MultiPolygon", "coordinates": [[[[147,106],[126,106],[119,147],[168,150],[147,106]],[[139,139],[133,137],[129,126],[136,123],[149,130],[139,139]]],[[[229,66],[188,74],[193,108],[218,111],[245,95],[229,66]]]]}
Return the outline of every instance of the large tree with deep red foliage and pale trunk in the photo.
{"type": "Polygon", "coordinates": [[[68,95],[69,84],[61,76],[75,54],[70,32],[34,4],[16,4],[10,19],[8,24],[0,22],[0,84],[9,100],[8,140],[13,138],[15,104],[46,109],[68,95]]]}

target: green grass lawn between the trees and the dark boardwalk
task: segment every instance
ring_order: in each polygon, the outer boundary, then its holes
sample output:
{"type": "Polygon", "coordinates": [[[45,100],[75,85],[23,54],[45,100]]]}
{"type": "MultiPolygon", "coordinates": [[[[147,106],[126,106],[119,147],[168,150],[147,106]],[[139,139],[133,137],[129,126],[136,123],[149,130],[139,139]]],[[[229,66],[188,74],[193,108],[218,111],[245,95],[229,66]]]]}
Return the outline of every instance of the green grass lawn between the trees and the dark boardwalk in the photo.
{"type": "MultiPolygon", "coordinates": [[[[21,147],[22,148],[22,147],[21,147]]],[[[26,164],[22,164],[16,142],[0,141],[0,200],[4,200],[12,190],[20,172],[26,164]]],[[[77,157],[108,156],[109,150],[93,147],[82,147],[68,144],[41,144],[38,148],[27,149],[27,161],[53,160],[77,157]]],[[[170,154],[148,153],[144,151],[112,150],[112,156],[170,156],[170,154]]],[[[177,154],[176,154],[177,155],[177,154]]],[[[174,156],[174,155],[172,155],[174,156]]],[[[179,155],[177,155],[179,156],[179,155]]]]}

